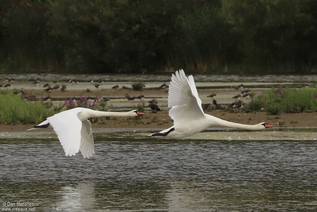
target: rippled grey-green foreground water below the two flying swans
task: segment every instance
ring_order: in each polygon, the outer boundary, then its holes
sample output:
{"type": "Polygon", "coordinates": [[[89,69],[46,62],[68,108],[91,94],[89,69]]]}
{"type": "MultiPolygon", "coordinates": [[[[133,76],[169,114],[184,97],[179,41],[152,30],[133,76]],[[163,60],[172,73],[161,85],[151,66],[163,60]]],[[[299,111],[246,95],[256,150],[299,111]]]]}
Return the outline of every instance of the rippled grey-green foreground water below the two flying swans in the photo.
{"type": "Polygon", "coordinates": [[[94,132],[96,155],[83,159],[65,157],[55,134],[4,133],[1,201],[39,211],[317,210],[316,129],[144,135],[94,132]]]}

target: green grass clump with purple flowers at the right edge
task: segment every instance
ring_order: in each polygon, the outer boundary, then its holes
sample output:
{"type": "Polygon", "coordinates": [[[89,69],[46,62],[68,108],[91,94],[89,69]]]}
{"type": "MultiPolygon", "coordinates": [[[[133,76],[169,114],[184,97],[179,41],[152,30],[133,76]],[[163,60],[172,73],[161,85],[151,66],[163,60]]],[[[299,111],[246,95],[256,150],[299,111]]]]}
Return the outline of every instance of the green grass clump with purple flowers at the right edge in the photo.
{"type": "Polygon", "coordinates": [[[317,88],[273,88],[255,97],[247,111],[259,111],[262,107],[270,115],[317,111],[317,88]],[[280,91],[280,92],[279,92],[280,91]]]}

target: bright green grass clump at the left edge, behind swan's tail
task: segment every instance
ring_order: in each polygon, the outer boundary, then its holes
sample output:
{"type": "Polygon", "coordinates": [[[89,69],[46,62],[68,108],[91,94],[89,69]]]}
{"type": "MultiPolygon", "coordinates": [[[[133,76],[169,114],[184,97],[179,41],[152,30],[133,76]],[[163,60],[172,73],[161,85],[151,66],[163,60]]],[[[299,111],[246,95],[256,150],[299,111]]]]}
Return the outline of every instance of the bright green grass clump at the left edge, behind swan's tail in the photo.
{"type": "Polygon", "coordinates": [[[0,108],[0,124],[38,124],[54,114],[41,101],[25,101],[12,91],[0,94],[0,108]]]}

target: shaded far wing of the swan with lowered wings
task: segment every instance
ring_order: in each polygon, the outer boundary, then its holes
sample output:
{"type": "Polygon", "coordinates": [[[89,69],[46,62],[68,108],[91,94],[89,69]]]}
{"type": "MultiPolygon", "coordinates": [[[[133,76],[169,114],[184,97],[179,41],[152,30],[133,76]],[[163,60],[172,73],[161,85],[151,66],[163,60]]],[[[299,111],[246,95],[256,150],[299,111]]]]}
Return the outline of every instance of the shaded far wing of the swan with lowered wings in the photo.
{"type": "Polygon", "coordinates": [[[79,150],[81,151],[81,154],[84,158],[93,157],[95,154],[94,137],[91,131],[91,124],[89,120],[82,121],[81,143],[79,150]]]}

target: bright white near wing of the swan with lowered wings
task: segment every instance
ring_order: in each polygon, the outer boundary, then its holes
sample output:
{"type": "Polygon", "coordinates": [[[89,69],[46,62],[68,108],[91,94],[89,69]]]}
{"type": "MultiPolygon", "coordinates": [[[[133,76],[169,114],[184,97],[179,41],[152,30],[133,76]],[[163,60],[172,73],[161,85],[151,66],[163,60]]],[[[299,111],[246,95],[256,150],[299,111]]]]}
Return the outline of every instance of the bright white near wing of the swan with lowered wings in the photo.
{"type": "Polygon", "coordinates": [[[78,110],[67,110],[47,118],[52,125],[66,156],[79,152],[81,143],[81,120],[78,110]]]}

